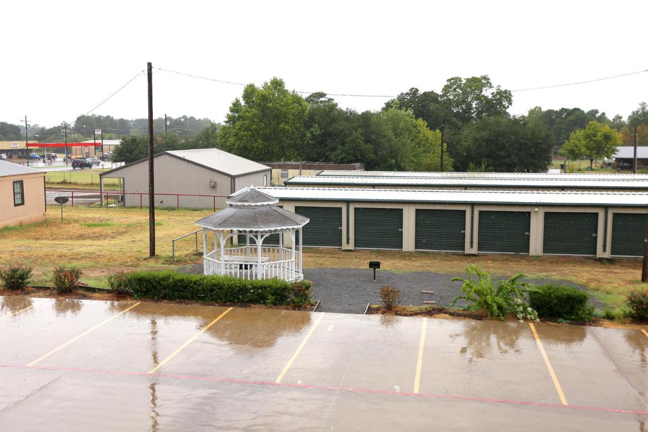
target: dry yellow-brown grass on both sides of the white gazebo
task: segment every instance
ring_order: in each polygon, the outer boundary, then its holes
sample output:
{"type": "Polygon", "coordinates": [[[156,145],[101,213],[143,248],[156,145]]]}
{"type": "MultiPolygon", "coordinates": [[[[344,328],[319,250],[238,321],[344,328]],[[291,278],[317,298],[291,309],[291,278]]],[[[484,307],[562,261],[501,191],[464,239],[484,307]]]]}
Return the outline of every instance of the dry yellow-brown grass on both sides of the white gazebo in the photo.
{"type": "MultiPolygon", "coordinates": [[[[194,237],[177,242],[176,264],[172,264],[171,239],[196,230],[194,221],[210,213],[211,210],[158,209],[157,256],[148,258],[148,210],[65,207],[61,223],[58,206],[49,206],[45,222],[0,230],[0,263],[17,262],[34,267],[37,283],[47,283],[56,265],[76,265],[84,271],[82,280],[96,286],[106,286],[105,276],[120,269],[155,270],[200,264],[201,257],[194,254],[194,237]]],[[[202,251],[201,235],[198,235],[198,250],[202,251]]],[[[621,306],[631,289],[646,288],[640,281],[642,263],[637,259],[599,261],[562,256],[463,256],[312,248],[305,250],[304,267],[366,269],[367,262],[374,260],[382,261],[383,270],[394,272],[422,270],[458,274],[469,264],[481,263],[484,270],[500,276],[522,272],[530,278],[570,280],[594,290],[601,302],[612,307],[621,306]]]]}

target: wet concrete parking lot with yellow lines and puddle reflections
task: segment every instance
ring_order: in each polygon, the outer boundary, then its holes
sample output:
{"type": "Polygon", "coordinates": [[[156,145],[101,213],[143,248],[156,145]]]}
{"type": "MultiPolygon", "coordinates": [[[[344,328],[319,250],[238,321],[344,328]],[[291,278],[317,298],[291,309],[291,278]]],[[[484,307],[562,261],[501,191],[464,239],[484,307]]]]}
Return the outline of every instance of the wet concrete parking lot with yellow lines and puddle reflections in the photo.
{"type": "Polygon", "coordinates": [[[648,332],[0,297],[0,430],[645,431],[648,332]]]}

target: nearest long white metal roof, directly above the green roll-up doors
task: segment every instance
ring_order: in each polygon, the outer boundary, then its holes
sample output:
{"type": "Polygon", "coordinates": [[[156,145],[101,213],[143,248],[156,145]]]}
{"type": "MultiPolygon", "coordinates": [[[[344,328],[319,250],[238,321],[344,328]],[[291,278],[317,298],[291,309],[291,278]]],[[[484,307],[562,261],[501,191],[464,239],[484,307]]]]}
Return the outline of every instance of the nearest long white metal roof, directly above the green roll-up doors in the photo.
{"type": "Polygon", "coordinates": [[[360,187],[259,187],[258,189],[280,200],[648,208],[648,193],[639,192],[463,191],[455,189],[364,189],[360,187]]]}

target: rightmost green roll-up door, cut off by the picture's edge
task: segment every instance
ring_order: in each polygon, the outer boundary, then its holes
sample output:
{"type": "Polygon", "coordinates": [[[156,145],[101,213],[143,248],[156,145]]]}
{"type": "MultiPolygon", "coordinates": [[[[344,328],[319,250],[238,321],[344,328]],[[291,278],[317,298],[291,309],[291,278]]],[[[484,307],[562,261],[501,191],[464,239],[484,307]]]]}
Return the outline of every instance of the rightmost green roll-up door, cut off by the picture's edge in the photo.
{"type": "Polygon", "coordinates": [[[645,213],[612,213],[612,256],[643,256],[645,213]]]}

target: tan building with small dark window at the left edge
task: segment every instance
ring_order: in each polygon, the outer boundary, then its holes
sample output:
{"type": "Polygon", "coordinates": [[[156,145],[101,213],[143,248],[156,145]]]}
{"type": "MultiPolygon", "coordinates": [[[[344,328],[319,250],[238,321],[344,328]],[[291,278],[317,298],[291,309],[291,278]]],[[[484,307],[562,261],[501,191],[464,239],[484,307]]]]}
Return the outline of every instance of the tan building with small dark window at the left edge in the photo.
{"type": "Polygon", "coordinates": [[[45,172],[0,160],[0,228],[45,220],[45,172]]]}

